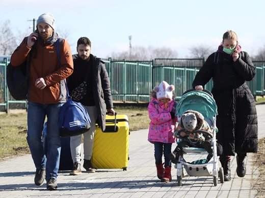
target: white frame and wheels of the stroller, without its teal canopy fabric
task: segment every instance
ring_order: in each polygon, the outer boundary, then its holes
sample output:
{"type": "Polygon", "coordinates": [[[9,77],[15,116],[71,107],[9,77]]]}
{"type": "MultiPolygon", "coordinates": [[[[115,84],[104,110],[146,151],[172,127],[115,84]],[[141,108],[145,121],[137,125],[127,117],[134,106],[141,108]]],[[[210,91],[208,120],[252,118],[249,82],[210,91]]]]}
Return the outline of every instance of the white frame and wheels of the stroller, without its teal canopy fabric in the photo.
{"type": "MultiPolygon", "coordinates": [[[[213,95],[205,89],[203,91],[196,91],[195,89],[188,90],[182,94],[181,98],[185,96],[185,94],[189,94],[191,92],[194,92],[195,94],[197,93],[201,94],[203,92],[203,94],[208,94],[213,99],[213,95]]],[[[213,102],[214,102],[214,99],[213,99],[213,102]]],[[[215,102],[214,102],[214,105],[216,105],[215,102]]],[[[196,109],[191,109],[191,110],[197,111],[196,109]]],[[[195,177],[213,176],[215,186],[217,186],[217,181],[219,177],[220,177],[220,183],[224,182],[223,168],[222,167],[219,168],[219,165],[218,165],[217,143],[216,143],[216,115],[213,116],[213,118],[211,119],[212,123],[209,123],[211,130],[213,131],[213,135],[203,130],[195,131],[195,133],[196,132],[204,133],[204,134],[209,135],[212,138],[211,142],[213,146],[213,157],[207,163],[191,164],[191,163],[186,162],[186,160],[184,159],[184,156],[183,157],[179,156],[179,158],[177,159],[177,163],[176,163],[178,186],[182,185],[182,177],[187,176],[187,175],[195,176],[195,177]]],[[[183,155],[185,153],[207,153],[207,152],[205,151],[204,148],[186,147],[186,148],[183,148],[183,155]]]]}

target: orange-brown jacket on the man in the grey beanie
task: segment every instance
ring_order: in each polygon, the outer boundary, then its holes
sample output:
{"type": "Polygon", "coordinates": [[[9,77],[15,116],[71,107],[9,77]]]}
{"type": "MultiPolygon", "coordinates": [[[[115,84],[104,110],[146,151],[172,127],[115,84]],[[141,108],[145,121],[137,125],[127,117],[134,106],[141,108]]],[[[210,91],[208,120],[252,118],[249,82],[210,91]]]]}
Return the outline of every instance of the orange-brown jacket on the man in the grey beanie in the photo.
{"type": "Polygon", "coordinates": [[[61,67],[59,66],[55,45],[57,39],[59,38],[54,37],[48,43],[37,40],[32,49],[26,47],[26,39],[24,39],[11,56],[11,64],[14,66],[30,59],[28,101],[39,104],[66,102],[66,88],[63,79],[72,74],[73,59],[68,42],[62,40],[60,43],[61,67]],[[30,52],[31,58],[29,58],[30,52]],[[35,81],[38,78],[44,79],[46,83],[44,89],[35,86],[35,81]]]}

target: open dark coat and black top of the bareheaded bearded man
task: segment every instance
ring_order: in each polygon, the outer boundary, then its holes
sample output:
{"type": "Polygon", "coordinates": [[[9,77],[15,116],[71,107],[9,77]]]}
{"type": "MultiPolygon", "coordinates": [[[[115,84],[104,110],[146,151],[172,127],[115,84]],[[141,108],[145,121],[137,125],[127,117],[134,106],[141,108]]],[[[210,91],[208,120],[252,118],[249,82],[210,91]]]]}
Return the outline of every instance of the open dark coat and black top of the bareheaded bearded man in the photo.
{"type": "MultiPolygon", "coordinates": [[[[88,81],[93,82],[92,93],[94,97],[94,105],[96,106],[98,112],[96,122],[102,130],[105,130],[106,111],[107,109],[113,108],[111,83],[105,64],[102,60],[96,58],[92,54],[90,54],[89,62],[82,60],[78,54],[74,54],[73,63],[73,74],[67,79],[69,92],[80,85],[85,78],[92,79],[92,81],[88,81]],[[90,72],[87,74],[87,68],[89,66],[92,66],[92,69],[90,69],[90,72]]],[[[84,106],[89,106],[87,104],[88,97],[91,97],[91,95],[87,94],[83,100],[80,101],[84,106]]]]}

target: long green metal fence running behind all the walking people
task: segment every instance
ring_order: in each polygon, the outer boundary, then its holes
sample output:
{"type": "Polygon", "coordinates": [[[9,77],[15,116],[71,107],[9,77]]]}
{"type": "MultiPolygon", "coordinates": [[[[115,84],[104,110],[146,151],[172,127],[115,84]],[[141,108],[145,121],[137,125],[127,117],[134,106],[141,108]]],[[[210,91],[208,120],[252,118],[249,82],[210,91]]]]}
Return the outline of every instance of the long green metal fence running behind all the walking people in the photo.
{"type": "MultiPolygon", "coordinates": [[[[161,81],[175,85],[177,100],[184,91],[192,88],[192,82],[205,59],[164,59],[151,61],[103,60],[109,73],[114,102],[146,103],[150,100],[150,91],[161,81]]],[[[265,61],[253,61],[256,67],[254,79],[247,82],[253,95],[264,95],[265,61]]],[[[0,112],[10,109],[25,109],[26,101],[15,101],[8,92],[6,67],[8,61],[0,63],[0,112]]],[[[225,79],[224,79],[225,80],[225,79]]],[[[210,80],[205,88],[211,90],[210,80]]]]}

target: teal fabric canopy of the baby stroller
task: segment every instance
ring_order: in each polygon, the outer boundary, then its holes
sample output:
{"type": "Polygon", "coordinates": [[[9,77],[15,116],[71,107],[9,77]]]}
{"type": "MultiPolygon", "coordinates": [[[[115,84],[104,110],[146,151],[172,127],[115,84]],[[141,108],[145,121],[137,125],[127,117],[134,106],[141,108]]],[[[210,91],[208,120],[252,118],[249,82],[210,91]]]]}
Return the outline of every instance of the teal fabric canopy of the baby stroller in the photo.
{"type": "Polygon", "coordinates": [[[177,104],[177,114],[180,116],[188,110],[200,112],[213,123],[214,116],[218,115],[216,102],[207,90],[196,91],[195,89],[191,89],[183,93],[177,104]]]}

